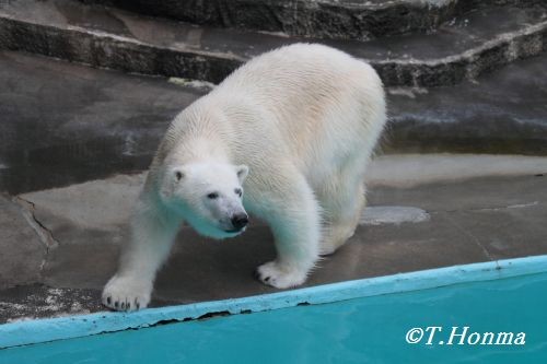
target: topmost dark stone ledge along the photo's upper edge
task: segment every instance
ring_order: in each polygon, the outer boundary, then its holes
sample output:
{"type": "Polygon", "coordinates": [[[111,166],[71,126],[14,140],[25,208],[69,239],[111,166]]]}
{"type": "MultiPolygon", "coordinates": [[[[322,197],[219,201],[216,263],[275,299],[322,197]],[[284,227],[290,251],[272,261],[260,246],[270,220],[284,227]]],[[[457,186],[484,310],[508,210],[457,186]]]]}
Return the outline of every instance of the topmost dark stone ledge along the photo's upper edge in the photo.
{"type": "Polygon", "coordinates": [[[81,0],[143,15],[216,27],[280,32],[290,36],[369,40],[430,32],[465,13],[540,0],[81,0]]]}

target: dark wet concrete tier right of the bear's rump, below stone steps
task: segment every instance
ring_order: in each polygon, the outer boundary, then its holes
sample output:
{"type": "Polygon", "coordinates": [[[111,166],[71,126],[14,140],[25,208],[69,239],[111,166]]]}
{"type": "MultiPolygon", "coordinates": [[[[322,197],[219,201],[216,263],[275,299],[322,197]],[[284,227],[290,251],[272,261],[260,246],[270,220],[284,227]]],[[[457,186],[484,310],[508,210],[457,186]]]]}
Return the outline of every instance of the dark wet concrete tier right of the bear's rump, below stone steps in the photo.
{"type": "Polygon", "coordinates": [[[547,155],[547,55],[455,86],[391,87],[384,152],[547,155]]]}

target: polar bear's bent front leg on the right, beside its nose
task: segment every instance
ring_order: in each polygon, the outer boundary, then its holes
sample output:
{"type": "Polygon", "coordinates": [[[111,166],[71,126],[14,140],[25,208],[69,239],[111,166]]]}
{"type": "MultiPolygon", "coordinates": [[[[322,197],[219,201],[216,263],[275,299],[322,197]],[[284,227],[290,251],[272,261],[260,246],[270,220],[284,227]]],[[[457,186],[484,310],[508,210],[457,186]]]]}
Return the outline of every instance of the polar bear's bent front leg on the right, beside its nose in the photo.
{"type": "Polygon", "coordinates": [[[276,240],[277,258],[261,265],[256,277],[265,284],[288,289],[305,282],[318,259],[321,239],[319,207],[303,176],[279,180],[259,193],[266,220],[276,240]]]}

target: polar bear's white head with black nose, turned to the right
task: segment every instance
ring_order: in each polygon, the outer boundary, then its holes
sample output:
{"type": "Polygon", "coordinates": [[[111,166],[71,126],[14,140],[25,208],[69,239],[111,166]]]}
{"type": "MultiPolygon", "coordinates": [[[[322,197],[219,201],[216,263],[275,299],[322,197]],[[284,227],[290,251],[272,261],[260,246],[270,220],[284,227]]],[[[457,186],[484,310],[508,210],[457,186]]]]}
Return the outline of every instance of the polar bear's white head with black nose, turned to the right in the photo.
{"type": "Polygon", "coordinates": [[[225,238],[245,231],[243,181],[248,167],[228,163],[190,163],[167,168],[160,195],[163,202],[199,234],[225,238]]]}

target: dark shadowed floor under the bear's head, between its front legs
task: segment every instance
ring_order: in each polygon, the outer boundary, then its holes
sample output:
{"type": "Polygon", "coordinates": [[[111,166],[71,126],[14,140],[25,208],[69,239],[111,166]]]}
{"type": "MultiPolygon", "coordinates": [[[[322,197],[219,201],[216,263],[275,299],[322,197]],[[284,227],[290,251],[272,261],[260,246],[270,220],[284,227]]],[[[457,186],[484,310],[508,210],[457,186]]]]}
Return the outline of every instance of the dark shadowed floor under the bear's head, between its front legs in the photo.
{"type": "Polygon", "coordinates": [[[276,292],[253,278],[256,267],[275,257],[274,237],[265,225],[224,240],[184,227],[158,274],[152,306],[276,292]]]}

